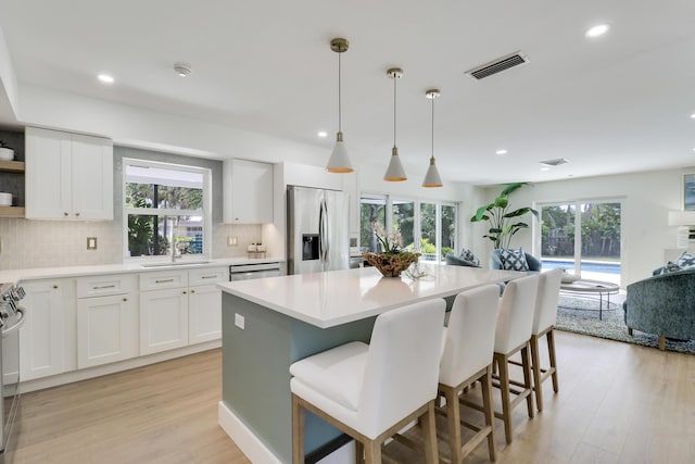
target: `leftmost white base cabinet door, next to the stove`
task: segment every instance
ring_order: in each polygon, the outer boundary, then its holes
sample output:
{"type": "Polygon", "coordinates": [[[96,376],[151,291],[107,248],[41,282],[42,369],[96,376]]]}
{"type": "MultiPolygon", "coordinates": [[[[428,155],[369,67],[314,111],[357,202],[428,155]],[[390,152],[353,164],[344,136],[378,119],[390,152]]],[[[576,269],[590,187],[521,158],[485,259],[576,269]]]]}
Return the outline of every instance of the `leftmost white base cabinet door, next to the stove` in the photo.
{"type": "MultiPolygon", "coordinates": [[[[20,329],[20,378],[61,374],[65,371],[64,280],[31,281],[22,285],[26,297],[26,322],[20,329]]],[[[74,304],[74,301],[73,301],[74,304]]]]}

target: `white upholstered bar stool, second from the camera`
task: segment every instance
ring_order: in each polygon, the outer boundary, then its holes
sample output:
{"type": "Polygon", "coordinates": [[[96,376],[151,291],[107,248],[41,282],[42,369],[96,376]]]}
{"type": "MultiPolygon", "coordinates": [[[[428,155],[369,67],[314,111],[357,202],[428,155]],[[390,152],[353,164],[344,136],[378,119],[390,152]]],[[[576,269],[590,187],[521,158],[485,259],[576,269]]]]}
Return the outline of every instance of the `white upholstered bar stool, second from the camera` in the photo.
{"type": "MultiPolygon", "coordinates": [[[[492,404],[492,355],[500,300],[500,287],[488,285],[456,296],[448,326],[444,333],[444,350],[439,371],[439,390],[446,399],[443,410],[448,423],[452,463],[459,464],[476,447],[488,439],[490,460],[495,460],[494,409],[492,404]],[[485,425],[463,422],[459,396],[465,387],[480,380],[485,425]],[[460,426],[473,431],[462,443],[460,426]]],[[[465,403],[464,403],[465,404],[465,403]]],[[[438,410],[442,411],[442,410],[438,410]]]]}

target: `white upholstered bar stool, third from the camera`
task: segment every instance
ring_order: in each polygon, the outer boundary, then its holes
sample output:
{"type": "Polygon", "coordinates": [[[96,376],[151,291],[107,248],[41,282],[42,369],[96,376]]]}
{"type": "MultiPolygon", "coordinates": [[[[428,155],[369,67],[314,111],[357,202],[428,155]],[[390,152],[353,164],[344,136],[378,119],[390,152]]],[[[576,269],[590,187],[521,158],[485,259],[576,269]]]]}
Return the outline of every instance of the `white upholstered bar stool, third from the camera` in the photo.
{"type": "Polygon", "coordinates": [[[511,443],[511,410],[526,400],[529,417],[532,418],[534,414],[529,341],[531,339],[538,287],[538,275],[514,279],[507,284],[500,300],[494,362],[500,373],[498,387],[502,394],[502,414],[495,412],[495,416],[504,422],[504,435],[507,444],[511,443]],[[509,359],[518,352],[521,353],[523,381],[513,383],[509,379],[509,359]],[[513,389],[511,384],[521,389],[513,389]],[[516,396],[514,400],[511,400],[511,394],[516,396]]]}

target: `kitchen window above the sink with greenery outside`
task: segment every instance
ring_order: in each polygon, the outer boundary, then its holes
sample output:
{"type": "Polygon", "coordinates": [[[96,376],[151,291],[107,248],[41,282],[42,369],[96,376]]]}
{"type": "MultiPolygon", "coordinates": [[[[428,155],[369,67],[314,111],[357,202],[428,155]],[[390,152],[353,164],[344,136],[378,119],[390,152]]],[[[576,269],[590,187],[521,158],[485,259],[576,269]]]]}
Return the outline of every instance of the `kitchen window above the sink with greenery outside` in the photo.
{"type": "Polygon", "coordinates": [[[123,160],[126,256],[208,254],[210,170],[123,160]]]}

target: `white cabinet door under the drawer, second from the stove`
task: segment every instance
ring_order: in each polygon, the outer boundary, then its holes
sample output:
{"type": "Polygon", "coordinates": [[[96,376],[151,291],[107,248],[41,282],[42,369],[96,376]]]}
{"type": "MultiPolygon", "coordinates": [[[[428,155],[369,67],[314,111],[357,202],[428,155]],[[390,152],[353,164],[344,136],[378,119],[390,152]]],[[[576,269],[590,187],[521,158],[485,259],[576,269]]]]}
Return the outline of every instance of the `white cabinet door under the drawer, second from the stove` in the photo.
{"type": "Polygon", "coordinates": [[[132,294],[77,300],[77,367],[127,360],[138,354],[132,294]]]}

